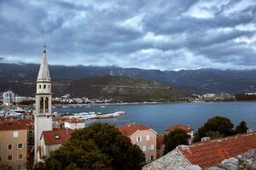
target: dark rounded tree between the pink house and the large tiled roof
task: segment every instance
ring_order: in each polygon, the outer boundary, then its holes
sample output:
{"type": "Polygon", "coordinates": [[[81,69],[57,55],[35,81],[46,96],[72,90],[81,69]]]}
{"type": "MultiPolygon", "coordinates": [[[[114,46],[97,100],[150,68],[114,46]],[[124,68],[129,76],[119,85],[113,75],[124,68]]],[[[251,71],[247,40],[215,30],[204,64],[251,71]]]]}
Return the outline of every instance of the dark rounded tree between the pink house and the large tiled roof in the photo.
{"type": "Polygon", "coordinates": [[[171,150],[174,150],[179,144],[189,144],[189,134],[187,134],[182,129],[175,129],[167,134],[164,137],[165,150],[164,154],[168,153],[171,150]]]}

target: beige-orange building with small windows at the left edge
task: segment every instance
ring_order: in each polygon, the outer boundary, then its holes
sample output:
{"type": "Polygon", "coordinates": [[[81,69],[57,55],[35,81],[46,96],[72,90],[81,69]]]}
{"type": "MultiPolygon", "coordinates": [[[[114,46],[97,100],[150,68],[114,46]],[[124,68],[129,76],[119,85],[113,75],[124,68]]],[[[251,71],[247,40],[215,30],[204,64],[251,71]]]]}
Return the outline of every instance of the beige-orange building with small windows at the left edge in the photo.
{"type": "Polygon", "coordinates": [[[20,122],[0,122],[0,169],[26,169],[27,129],[20,122]]]}

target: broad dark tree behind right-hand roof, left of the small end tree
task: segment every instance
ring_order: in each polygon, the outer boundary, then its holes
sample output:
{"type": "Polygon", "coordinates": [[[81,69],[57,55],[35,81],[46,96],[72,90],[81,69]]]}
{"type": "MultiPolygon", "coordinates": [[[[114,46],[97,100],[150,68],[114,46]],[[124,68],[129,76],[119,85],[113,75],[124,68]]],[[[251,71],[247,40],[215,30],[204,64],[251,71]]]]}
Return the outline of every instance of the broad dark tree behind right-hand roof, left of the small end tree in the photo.
{"type": "Polygon", "coordinates": [[[233,127],[234,125],[230,119],[222,116],[214,116],[198,129],[193,142],[200,141],[201,138],[206,137],[207,133],[210,132],[215,132],[215,137],[217,137],[217,133],[219,137],[230,136],[234,134],[233,127]]]}

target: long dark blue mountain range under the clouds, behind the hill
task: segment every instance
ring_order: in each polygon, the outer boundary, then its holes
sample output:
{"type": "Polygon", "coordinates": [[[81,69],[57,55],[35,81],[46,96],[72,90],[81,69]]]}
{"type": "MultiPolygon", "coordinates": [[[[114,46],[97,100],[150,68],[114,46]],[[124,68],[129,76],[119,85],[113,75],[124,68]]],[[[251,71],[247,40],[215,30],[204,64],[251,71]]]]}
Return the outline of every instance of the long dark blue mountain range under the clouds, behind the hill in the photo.
{"type": "MultiPolygon", "coordinates": [[[[0,63],[0,91],[13,89],[20,95],[32,95],[39,65],[0,63]]],[[[68,93],[67,86],[88,77],[135,77],[183,91],[186,94],[227,92],[241,94],[256,91],[256,70],[198,69],[181,71],[143,70],[117,66],[49,65],[55,95],[68,93]]]]}

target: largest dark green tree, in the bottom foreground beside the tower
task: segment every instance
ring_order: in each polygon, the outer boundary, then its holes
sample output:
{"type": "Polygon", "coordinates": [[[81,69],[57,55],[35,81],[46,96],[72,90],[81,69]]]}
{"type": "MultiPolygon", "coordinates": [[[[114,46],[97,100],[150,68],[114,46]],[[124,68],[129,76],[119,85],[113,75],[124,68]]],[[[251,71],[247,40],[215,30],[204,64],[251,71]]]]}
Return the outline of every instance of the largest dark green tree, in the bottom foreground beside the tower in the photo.
{"type": "Polygon", "coordinates": [[[143,151],[115,127],[94,123],[75,130],[71,139],[34,169],[118,170],[141,169],[143,151]]]}

